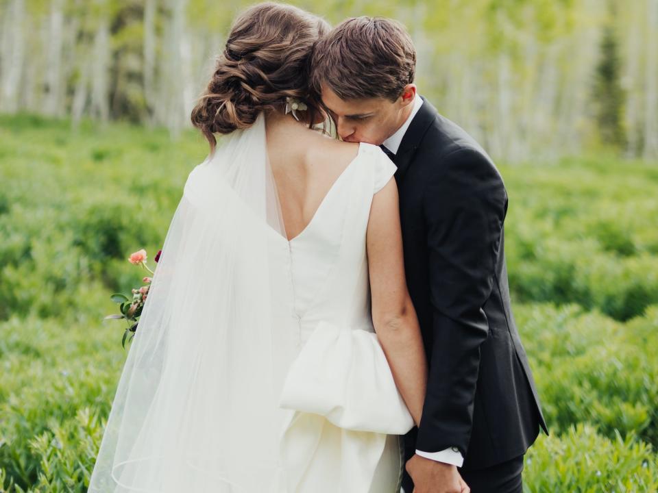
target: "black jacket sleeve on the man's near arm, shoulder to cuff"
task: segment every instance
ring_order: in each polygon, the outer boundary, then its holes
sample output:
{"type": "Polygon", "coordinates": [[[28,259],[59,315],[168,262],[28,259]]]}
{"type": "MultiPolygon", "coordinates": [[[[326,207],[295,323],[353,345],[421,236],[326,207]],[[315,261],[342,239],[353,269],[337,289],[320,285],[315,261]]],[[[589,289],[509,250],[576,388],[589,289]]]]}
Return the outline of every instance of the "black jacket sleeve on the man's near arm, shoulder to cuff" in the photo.
{"type": "Polygon", "coordinates": [[[433,318],[416,448],[465,457],[507,194],[493,163],[463,148],[441,158],[423,200],[433,318]]]}

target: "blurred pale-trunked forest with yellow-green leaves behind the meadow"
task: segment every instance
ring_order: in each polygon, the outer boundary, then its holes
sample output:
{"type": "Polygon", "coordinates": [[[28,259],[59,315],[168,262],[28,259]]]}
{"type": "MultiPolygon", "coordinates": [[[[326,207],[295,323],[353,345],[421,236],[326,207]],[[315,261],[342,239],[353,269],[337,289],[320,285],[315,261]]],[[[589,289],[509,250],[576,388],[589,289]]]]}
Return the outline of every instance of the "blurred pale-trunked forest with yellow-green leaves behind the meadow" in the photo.
{"type": "MultiPolygon", "coordinates": [[[[398,18],[419,90],[507,161],[658,157],[658,0],[293,1],[398,18]]],[[[0,111],[188,125],[243,0],[2,0],[0,111]]],[[[358,49],[358,47],[355,47],[358,49]]]]}

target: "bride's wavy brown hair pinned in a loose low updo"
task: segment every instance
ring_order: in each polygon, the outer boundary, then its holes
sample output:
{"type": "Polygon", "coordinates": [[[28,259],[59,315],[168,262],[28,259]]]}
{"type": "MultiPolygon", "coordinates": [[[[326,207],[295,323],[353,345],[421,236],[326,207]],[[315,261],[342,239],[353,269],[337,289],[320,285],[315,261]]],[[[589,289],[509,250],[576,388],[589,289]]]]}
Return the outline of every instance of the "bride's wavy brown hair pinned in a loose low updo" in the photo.
{"type": "Polygon", "coordinates": [[[211,152],[213,134],[245,129],[263,111],[283,112],[287,97],[306,103],[308,110],[297,115],[312,125],[320,104],[308,85],[310,55],[329,29],[323,19],[280,3],[260,3],[236,18],[191,115],[211,152]]]}

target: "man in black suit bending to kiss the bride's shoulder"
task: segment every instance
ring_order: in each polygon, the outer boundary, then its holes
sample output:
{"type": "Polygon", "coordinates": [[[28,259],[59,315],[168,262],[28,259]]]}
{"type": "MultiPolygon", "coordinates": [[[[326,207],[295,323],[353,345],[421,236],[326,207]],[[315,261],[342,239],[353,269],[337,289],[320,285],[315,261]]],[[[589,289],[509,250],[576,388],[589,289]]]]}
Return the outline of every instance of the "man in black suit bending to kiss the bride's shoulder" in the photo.
{"type": "Polygon", "coordinates": [[[413,84],[400,23],[359,17],[323,38],[312,84],[343,140],[398,166],[404,266],[429,361],[422,421],[405,437],[406,493],[521,492],[546,433],[509,301],[507,193],[489,156],[413,84]]]}

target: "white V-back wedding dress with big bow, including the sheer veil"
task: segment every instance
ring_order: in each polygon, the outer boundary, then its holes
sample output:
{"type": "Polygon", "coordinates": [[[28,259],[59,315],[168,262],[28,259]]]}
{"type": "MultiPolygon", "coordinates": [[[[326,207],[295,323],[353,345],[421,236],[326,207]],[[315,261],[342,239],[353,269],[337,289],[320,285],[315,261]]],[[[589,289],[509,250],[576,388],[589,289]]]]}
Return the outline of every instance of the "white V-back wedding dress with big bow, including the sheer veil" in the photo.
{"type": "Polygon", "coordinates": [[[188,177],[90,492],[393,493],[413,420],[371,318],[376,146],[287,240],[265,122],[188,177]]]}

